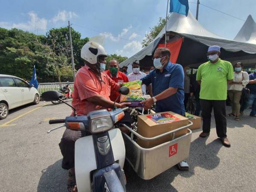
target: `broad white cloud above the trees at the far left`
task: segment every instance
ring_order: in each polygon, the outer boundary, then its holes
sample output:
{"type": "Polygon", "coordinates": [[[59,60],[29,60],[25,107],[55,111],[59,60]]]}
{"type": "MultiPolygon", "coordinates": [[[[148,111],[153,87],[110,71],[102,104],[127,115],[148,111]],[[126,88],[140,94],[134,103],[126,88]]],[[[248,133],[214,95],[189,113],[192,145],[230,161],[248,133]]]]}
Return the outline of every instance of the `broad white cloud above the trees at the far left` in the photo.
{"type": "Polygon", "coordinates": [[[32,30],[45,30],[47,28],[48,21],[44,18],[39,18],[34,12],[29,12],[29,21],[26,23],[8,23],[0,22],[0,26],[6,29],[18,28],[25,31],[32,30]]]}

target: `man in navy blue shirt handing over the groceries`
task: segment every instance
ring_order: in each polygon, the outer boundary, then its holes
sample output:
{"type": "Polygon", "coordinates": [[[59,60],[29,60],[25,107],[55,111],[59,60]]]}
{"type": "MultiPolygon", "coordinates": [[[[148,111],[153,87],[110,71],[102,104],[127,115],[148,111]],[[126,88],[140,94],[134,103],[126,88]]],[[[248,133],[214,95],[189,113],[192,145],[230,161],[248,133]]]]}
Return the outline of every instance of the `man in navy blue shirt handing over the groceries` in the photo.
{"type": "Polygon", "coordinates": [[[157,48],[154,52],[154,67],[142,78],[145,85],[152,83],[153,97],[143,102],[149,109],[156,102],[156,112],[173,111],[185,116],[184,108],[184,72],[180,64],[172,64],[169,49],[157,48]]]}

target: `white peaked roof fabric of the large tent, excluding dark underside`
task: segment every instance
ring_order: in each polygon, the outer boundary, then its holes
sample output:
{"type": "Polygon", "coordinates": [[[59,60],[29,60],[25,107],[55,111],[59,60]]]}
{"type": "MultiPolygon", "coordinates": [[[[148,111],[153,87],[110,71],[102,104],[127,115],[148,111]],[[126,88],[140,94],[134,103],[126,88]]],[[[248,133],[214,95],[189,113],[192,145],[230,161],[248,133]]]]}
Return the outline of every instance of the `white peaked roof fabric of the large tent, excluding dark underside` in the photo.
{"type": "MultiPolygon", "coordinates": [[[[209,32],[201,26],[198,20],[196,20],[190,12],[187,17],[185,15],[172,13],[167,21],[167,32],[174,32],[177,35],[189,38],[193,41],[198,41],[207,46],[218,45],[230,52],[238,52],[242,50],[247,53],[256,53],[256,45],[254,44],[232,41],[209,32]]],[[[136,60],[141,60],[146,55],[152,55],[152,52],[157,47],[157,44],[164,34],[165,27],[163,27],[161,32],[147,47],[144,47],[135,55],[123,61],[120,64],[120,67],[123,67],[124,65],[127,66],[129,63],[136,60]]]]}

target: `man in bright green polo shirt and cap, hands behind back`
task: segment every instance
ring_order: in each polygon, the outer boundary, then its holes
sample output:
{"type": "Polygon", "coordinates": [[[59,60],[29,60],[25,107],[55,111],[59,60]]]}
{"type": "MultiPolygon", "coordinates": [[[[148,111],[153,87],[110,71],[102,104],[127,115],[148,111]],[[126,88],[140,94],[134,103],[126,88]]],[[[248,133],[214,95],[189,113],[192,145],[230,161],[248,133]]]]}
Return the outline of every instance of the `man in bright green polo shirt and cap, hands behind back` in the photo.
{"type": "Polygon", "coordinates": [[[216,131],[224,146],[230,147],[227,139],[226,99],[227,84],[234,78],[233,66],[228,61],[219,58],[219,46],[208,48],[208,62],[198,68],[196,80],[201,84],[200,101],[203,117],[203,132],[200,137],[207,137],[210,133],[211,113],[214,110],[216,131]]]}

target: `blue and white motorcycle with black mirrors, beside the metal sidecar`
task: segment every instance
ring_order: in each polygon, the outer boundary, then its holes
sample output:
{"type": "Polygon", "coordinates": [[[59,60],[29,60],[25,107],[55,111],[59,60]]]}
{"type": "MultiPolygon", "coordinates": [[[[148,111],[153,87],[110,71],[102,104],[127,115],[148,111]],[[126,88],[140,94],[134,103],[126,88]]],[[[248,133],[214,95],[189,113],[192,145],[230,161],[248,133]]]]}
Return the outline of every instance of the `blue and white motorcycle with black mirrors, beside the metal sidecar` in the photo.
{"type": "MultiPolygon", "coordinates": [[[[121,87],[123,95],[129,93],[127,87],[121,87]]],[[[44,101],[60,100],[63,95],[57,91],[42,94],[44,101]]],[[[67,102],[65,104],[69,105],[67,102]]],[[[71,108],[73,106],[69,105],[71,108]]],[[[119,128],[114,124],[124,117],[128,108],[114,108],[112,111],[91,111],[87,116],[74,116],[65,119],[50,120],[49,124],[64,123],[58,128],[86,130],[90,135],[81,137],[75,143],[76,184],[79,192],[125,192],[126,178],[123,171],[125,162],[125,144],[119,128]]]]}

